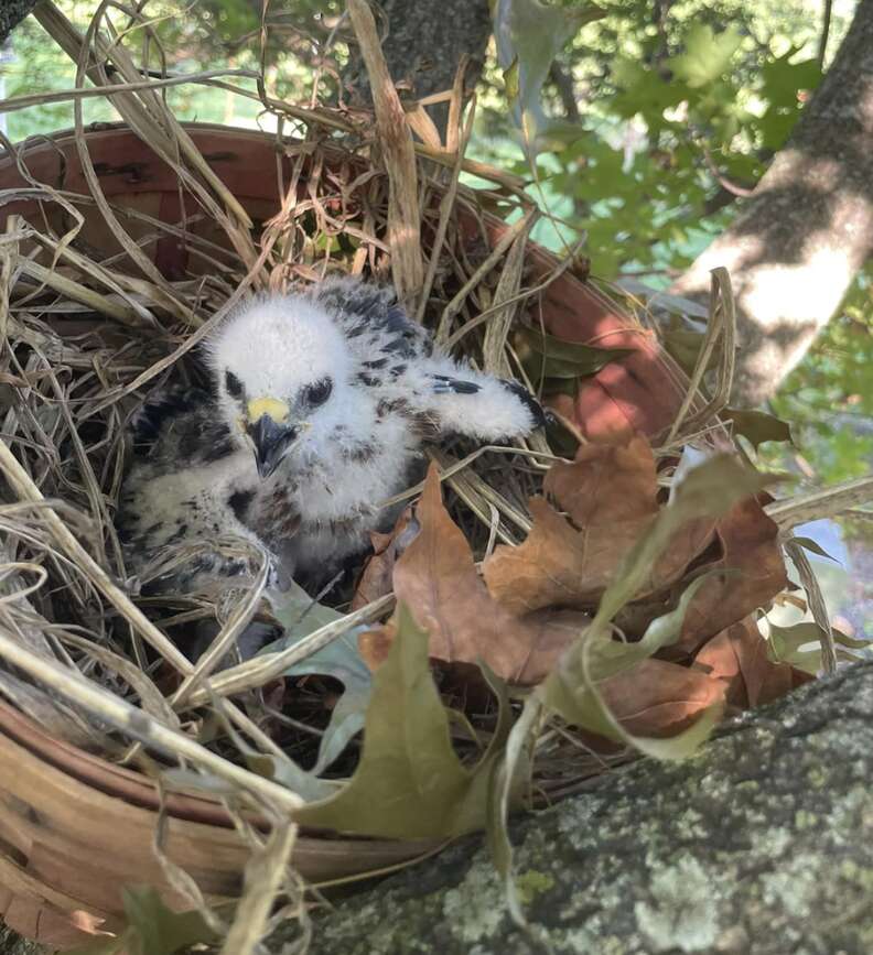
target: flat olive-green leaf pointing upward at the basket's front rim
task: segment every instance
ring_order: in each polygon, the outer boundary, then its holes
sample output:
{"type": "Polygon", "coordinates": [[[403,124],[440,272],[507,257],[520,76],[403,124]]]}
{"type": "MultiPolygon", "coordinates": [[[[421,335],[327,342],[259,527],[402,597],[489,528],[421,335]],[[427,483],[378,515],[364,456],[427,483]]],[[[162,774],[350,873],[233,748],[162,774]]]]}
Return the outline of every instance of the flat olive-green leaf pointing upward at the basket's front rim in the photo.
{"type": "Polygon", "coordinates": [[[467,769],[452,748],[449,715],[431,677],[428,634],[398,606],[397,636],[373,681],[357,770],[336,795],[299,810],[297,821],[398,839],[482,828],[491,768],[508,734],[505,703],[500,710],[488,750],[467,769]]]}

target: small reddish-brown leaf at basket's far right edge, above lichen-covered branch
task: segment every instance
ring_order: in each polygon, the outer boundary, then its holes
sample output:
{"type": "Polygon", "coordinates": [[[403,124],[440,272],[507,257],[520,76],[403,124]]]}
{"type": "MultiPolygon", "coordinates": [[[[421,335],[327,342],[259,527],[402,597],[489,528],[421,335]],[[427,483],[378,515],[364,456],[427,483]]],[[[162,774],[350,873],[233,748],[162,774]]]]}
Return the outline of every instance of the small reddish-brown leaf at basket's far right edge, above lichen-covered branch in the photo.
{"type": "Polygon", "coordinates": [[[767,642],[752,615],[713,637],[697,654],[694,669],[720,682],[728,704],[740,709],[770,703],[813,679],[769,659],[767,642]]]}

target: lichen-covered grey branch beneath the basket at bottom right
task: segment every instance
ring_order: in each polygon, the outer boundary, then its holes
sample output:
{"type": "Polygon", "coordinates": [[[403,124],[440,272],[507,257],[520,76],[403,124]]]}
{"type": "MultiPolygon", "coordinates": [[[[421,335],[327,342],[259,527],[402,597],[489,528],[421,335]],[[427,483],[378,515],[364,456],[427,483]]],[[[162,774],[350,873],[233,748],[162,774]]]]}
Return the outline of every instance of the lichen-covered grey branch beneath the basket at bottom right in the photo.
{"type": "MultiPolygon", "coordinates": [[[[873,951],[873,662],[746,714],[683,763],[640,761],[515,826],[554,955],[873,951]]],[[[269,942],[280,952],[287,924],[269,942]]],[[[545,951],[479,839],[316,916],[310,955],[545,951]]]]}

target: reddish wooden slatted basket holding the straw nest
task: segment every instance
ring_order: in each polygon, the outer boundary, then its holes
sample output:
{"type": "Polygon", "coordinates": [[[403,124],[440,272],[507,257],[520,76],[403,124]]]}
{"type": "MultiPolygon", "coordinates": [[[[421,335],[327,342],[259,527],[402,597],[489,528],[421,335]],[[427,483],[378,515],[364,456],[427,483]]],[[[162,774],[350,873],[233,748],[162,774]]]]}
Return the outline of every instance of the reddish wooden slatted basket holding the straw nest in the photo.
{"type": "MultiPolygon", "coordinates": [[[[255,220],[269,219],[280,203],[273,138],[222,127],[192,126],[201,151],[255,220]]],[[[179,223],[182,199],[175,174],[131,132],[101,129],[88,134],[88,148],[106,195],[163,221],[179,223]]],[[[26,164],[40,182],[87,194],[69,134],[29,150],[26,164]]],[[[0,161],[0,189],[22,187],[14,163],[0,161]]],[[[116,251],[94,206],[79,206],[86,216],[82,238],[116,251]]],[[[60,216],[44,205],[50,219],[60,216]]],[[[192,202],[186,209],[195,211],[192,202]]],[[[34,202],[4,206],[41,226],[34,202]]],[[[506,227],[496,217],[485,221],[494,240],[506,227]]],[[[473,219],[462,228],[472,229],[473,219]]],[[[58,232],[60,218],[55,225],[58,232]]],[[[131,234],[146,235],[132,221],[131,234]]],[[[191,231],[227,246],[212,223],[196,223],[191,231]]],[[[164,237],[148,246],[155,263],[170,276],[197,269],[184,243],[164,237]]],[[[545,249],[532,247],[530,261],[543,272],[554,265],[545,249]]],[[[683,376],[664,355],[650,333],[611,311],[602,296],[572,274],[551,283],[539,300],[537,315],[561,337],[632,354],[582,382],[575,415],[590,436],[629,430],[656,435],[669,425],[682,398],[683,376]]],[[[571,399],[565,402],[572,404],[571,399]]],[[[564,406],[562,410],[568,411],[564,406]]],[[[10,927],[50,945],[71,946],[88,933],[119,924],[120,888],[148,882],[162,888],[170,903],[172,889],[152,854],[159,800],[153,783],[106,760],[48,737],[14,708],[0,704],[0,914],[10,927]]],[[[238,893],[247,850],[217,801],[177,794],[165,806],[169,816],[166,851],[197,880],[207,896],[238,893]]],[[[304,834],[294,862],[312,881],[333,879],[414,858],[424,843],[338,839],[304,834]]],[[[176,900],[179,901],[179,900],[176,900]]]]}

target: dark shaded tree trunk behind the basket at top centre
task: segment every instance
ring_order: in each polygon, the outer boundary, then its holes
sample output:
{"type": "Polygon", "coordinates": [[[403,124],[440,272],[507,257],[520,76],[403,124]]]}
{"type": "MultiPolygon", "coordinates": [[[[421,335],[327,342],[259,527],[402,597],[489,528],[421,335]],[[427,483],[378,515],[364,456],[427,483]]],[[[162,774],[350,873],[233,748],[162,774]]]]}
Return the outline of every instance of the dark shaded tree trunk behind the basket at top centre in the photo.
{"type": "MultiPolygon", "coordinates": [[[[492,32],[487,0],[382,0],[379,7],[382,53],[395,84],[410,83],[416,99],[451,89],[464,54],[471,58],[467,85],[475,84],[492,32]]],[[[369,100],[367,70],[356,48],[343,79],[369,100]]],[[[429,111],[443,132],[448,109],[429,111]]]]}

